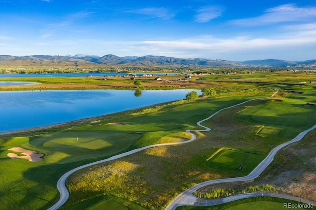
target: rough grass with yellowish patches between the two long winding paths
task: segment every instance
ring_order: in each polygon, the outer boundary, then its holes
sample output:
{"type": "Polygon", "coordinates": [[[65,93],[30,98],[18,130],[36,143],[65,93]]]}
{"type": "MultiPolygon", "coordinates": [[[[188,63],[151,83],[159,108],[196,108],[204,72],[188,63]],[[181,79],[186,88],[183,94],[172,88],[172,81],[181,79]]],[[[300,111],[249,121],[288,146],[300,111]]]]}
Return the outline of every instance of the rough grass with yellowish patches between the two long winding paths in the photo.
{"type": "MultiPolygon", "coordinates": [[[[291,99],[288,100],[283,93],[280,93],[276,98],[282,98],[284,103],[279,103],[278,105],[283,105],[284,109],[288,110],[291,106],[291,99]]],[[[223,99],[213,100],[212,105],[217,100],[221,101],[223,99]]],[[[303,112],[296,113],[294,109],[290,109],[293,110],[291,113],[294,117],[304,122],[304,126],[300,125],[299,128],[296,128],[295,125],[284,126],[283,122],[276,124],[273,119],[271,119],[271,122],[273,122],[271,125],[263,122],[261,119],[261,121],[251,121],[251,118],[250,120],[248,118],[244,120],[244,116],[247,116],[244,113],[246,110],[260,110],[263,113],[268,112],[262,109],[273,110],[274,104],[272,102],[269,103],[273,100],[275,99],[254,101],[219,113],[213,119],[203,123],[210,126],[213,130],[203,134],[198,133],[200,138],[190,145],[168,147],[167,149],[156,148],[156,150],[139,153],[137,157],[123,158],[119,164],[107,163],[102,164],[100,168],[95,167],[84,170],[84,172],[81,172],[81,175],[79,173],[70,179],[68,185],[70,192],[74,193],[74,197],[78,196],[75,200],[80,200],[87,196],[88,192],[91,193],[90,191],[82,192],[82,190],[85,191],[85,183],[93,182],[93,186],[91,186],[95,189],[93,192],[96,192],[98,189],[100,194],[118,196],[123,199],[136,201],[137,204],[146,208],[157,209],[159,206],[165,207],[165,198],[172,198],[181,189],[192,186],[194,183],[207,179],[245,175],[246,171],[236,170],[240,161],[237,163],[237,160],[234,160],[234,162],[230,159],[231,157],[239,158],[241,161],[255,159],[259,163],[276,145],[294,138],[300,131],[311,127],[316,122],[313,118],[310,121],[304,121],[311,113],[314,116],[316,111],[315,107],[305,107],[304,105],[302,105],[302,108],[306,111],[303,112]],[[268,130],[265,134],[258,135],[258,131],[262,129],[263,124],[270,129],[278,130],[277,136],[275,133],[271,135],[271,130],[268,130]],[[207,160],[221,147],[235,148],[237,151],[228,152],[226,155],[223,155],[223,158],[219,158],[222,160],[226,158],[227,167],[209,167],[207,160]],[[179,154],[185,154],[185,156],[179,154]],[[229,161],[232,162],[230,163],[229,161]],[[228,166],[231,166],[229,170],[227,170],[228,166]],[[98,181],[101,175],[105,173],[105,170],[109,168],[114,171],[118,170],[118,168],[124,168],[126,171],[121,171],[118,174],[110,173],[111,175],[108,174],[102,181],[98,181]],[[158,172],[160,170],[163,173],[158,172]],[[116,177],[121,177],[121,179],[118,181],[116,177]],[[161,186],[161,184],[163,185],[161,186]],[[130,189],[133,190],[131,191],[130,189]],[[166,191],[162,189],[166,189],[166,191]],[[125,191],[130,193],[124,194],[125,191]]],[[[200,101],[198,103],[201,105],[205,102],[200,101]]],[[[301,103],[304,104],[304,102],[301,103]]],[[[163,110],[161,112],[163,113],[163,110]]],[[[213,157],[216,158],[216,155],[213,157]]],[[[255,166],[254,163],[251,164],[253,164],[251,167],[255,166]]],[[[217,166],[220,165],[218,163],[217,166]]],[[[249,170],[248,172],[251,171],[251,167],[247,169],[249,170]]],[[[69,201],[67,205],[73,205],[72,202],[69,201]]]]}

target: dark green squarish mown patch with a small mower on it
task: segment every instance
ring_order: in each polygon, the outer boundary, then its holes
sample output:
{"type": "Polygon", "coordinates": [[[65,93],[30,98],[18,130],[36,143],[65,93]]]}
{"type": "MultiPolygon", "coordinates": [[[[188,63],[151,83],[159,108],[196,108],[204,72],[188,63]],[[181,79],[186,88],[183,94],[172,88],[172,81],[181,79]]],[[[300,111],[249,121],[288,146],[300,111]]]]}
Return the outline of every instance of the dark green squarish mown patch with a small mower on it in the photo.
{"type": "Polygon", "coordinates": [[[263,159],[264,155],[241,152],[231,149],[223,149],[209,159],[206,164],[214,169],[220,169],[240,174],[249,174],[263,159]],[[238,171],[241,165],[243,170],[238,171]]]}

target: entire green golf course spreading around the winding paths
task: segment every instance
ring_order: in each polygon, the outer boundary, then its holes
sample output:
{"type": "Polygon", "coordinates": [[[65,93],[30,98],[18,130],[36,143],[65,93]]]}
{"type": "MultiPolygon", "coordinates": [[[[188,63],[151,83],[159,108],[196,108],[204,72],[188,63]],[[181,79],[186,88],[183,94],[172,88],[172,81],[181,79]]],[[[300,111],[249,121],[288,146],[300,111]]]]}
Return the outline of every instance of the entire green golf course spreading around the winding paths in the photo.
{"type": "MultiPolygon", "coordinates": [[[[25,80],[36,81],[32,77],[21,79],[25,80]]],[[[280,71],[197,76],[187,88],[210,87],[216,90],[215,96],[189,100],[184,95],[184,100],[177,102],[40,130],[0,134],[0,206],[49,209],[60,199],[56,188],[59,178],[96,161],[98,164],[69,175],[65,182],[69,198],[60,209],[165,209],[180,193],[198,183],[249,175],[275,147],[316,124],[316,86],[308,84],[309,80],[316,80],[316,75],[280,71]],[[271,97],[274,93],[276,95],[271,97]],[[190,130],[196,137],[194,140],[186,132],[190,130]],[[23,156],[21,152],[9,150],[14,147],[42,154],[42,160],[12,159],[9,153],[23,156]],[[147,149],[141,149],[143,147],[147,149]],[[128,152],[132,154],[111,159],[128,152]],[[101,163],[105,159],[109,161],[101,163]],[[242,170],[237,170],[238,166],[242,166],[242,170]]],[[[51,81],[62,84],[61,78],[51,81]]],[[[80,87],[85,84],[80,78],[76,82],[80,87]]],[[[94,82],[97,81],[89,80],[87,84],[94,82]]],[[[116,85],[124,88],[125,83],[124,80],[116,85]]],[[[292,170],[315,172],[316,164],[308,152],[315,149],[314,132],[310,131],[300,140],[303,145],[311,141],[308,147],[302,148],[306,150],[301,159],[304,167],[295,165],[292,170]]],[[[271,175],[270,171],[274,172],[276,161],[282,161],[279,155],[286,149],[287,146],[276,153],[271,166],[258,179],[263,181],[271,175]]],[[[277,176],[275,172],[273,175],[277,176]]],[[[299,183],[314,186],[313,180],[301,178],[299,183]]],[[[297,183],[294,179],[292,182],[297,183]]],[[[245,185],[253,183],[243,183],[245,185]]],[[[207,190],[203,188],[200,192],[207,190]]],[[[279,193],[286,193],[286,189],[279,193]]],[[[313,194],[304,198],[316,199],[313,194]]],[[[248,202],[251,203],[244,205],[249,208],[253,208],[252,203],[278,207],[284,200],[249,199],[248,202]]],[[[223,209],[246,209],[241,203],[236,205],[223,209]]]]}

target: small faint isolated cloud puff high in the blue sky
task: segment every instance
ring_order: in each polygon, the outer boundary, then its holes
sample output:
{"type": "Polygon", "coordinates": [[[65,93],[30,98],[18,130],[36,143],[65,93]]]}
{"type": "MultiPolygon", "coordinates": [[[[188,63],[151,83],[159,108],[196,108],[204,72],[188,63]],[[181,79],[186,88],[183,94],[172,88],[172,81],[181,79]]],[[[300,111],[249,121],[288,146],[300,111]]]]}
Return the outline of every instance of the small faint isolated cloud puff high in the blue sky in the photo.
{"type": "Polygon", "coordinates": [[[207,6],[197,10],[195,21],[198,23],[209,22],[212,19],[218,18],[222,15],[223,9],[218,6],[207,6]]]}

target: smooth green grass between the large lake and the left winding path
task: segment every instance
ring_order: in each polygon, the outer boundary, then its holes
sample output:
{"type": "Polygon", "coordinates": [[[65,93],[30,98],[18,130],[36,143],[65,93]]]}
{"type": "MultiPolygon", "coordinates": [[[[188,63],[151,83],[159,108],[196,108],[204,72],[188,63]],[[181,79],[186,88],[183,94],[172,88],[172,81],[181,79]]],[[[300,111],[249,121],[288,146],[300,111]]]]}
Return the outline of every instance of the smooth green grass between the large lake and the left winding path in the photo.
{"type": "Polygon", "coordinates": [[[243,97],[234,97],[222,98],[215,103],[203,100],[169,105],[157,112],[136,116],[119,113],[104,117],[105,120],[98,123],[102,125],[85,125],[32,137],[1,139],[0,206],[6,209],[47,209],[58,200],[58,178],[70,169],[122,150],[167,142],[170,136],[172,141],[186,140],[188,136],[183,131],[198,128],[196,122],[207,117],[211,111],[244,100],[243,97]],[[108,125],[107,122],[125,125],[108,125]],[[120,138],[124,141],[120,141],[120,138]],[[7,149],[19,146],[43,153],[44,161],[9,159],[7,149]],[[88,157],[92,158],[85,160],[88,157]]]}

